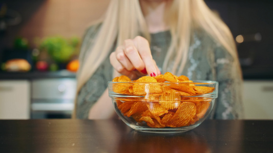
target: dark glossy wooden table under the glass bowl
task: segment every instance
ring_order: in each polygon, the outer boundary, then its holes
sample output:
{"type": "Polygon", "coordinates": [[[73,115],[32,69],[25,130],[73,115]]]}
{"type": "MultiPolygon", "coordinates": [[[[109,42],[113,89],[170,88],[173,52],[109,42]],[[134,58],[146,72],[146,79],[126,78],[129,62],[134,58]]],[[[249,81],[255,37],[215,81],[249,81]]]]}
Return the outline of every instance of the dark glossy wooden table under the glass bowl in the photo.
{"type": "Polygon", "coordinates": [[[273,120],[206,120],[170,135],[121,120],[0,120],[0,152],[273,152],[273,120]]]}

